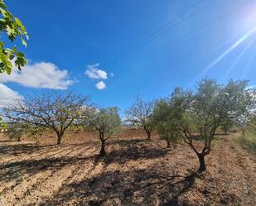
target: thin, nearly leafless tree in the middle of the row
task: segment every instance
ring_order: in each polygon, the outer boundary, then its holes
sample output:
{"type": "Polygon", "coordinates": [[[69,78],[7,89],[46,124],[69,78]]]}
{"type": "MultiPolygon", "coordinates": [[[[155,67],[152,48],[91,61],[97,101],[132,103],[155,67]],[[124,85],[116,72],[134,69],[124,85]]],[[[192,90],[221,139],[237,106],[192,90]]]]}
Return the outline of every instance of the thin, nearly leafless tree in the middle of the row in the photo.
{"type": "Polygon", "coordinates": [[[135,126],[142,127],[147,133],[147,139],[151,138],[152,129],[154,124],[152,122],[152,112],[155,102],[145,102],[137,96],[133,101],[132,106],[126,110],[126,122],[135,126]]]}

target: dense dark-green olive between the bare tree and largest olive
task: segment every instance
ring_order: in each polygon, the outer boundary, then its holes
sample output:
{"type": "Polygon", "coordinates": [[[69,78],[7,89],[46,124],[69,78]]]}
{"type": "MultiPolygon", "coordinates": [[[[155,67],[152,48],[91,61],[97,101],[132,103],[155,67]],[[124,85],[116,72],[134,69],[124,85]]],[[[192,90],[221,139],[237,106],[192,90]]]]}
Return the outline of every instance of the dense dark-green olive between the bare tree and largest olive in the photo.
{"type": "Polygon", "coordinates": [[[153,111],[153,123],[157,129],[159,137],[167,141],[167,148],[176,146],[176,141],[180,134],[176,131],[176,119],[172,108],[168,105],[168,99],[161,99],[155,105],[153,111]]]}

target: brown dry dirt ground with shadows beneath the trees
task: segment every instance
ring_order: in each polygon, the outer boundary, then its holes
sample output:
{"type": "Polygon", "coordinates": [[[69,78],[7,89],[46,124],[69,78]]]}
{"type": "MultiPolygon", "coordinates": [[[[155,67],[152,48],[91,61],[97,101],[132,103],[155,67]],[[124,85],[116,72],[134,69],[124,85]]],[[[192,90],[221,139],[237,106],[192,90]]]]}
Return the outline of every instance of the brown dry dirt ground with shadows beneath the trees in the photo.
{"type": "Polygon", "coordinates": [[[70,134],[61,146],[0,141],[0,205],[256,205],[256,158],[219,137],[196,175],[184,145],[167,149],[157,136],[127,130],[99,158],[96,134],[70,134]]]}

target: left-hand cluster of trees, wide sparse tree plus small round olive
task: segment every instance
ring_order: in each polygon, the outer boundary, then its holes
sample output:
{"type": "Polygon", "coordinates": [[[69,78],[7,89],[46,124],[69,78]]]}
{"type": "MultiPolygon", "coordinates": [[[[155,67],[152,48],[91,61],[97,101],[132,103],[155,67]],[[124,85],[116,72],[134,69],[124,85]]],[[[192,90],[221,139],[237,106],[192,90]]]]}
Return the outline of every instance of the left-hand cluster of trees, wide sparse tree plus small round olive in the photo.
{"type": "Polygon", "coordinates": [[[56,133],[60,145],[65,132],[71,128],[93,128],[102,143],[99,155],[104,156],[105,141],[121,126],[118,108],[96,108],[89,97],[74,93],[45,93],[36,98],[18,99],[4,108],[7,136],[21,140],[23,134],[36,135],[43,131],[56,133]]]}

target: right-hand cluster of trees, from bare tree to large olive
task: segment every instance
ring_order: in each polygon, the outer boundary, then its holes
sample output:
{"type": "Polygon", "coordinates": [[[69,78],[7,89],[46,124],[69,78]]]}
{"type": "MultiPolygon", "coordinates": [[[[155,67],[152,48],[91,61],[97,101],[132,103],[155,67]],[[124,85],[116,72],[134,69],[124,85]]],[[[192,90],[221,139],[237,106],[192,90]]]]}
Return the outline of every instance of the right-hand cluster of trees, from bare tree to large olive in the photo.
{"type": "Polygon", "coordinates": [[[127,111],[128,122],[143,127],[148,138],[148,131],[154,127],[167,141],[167,147],[176,146],[182,139],[196,153],[199,171],[205,171],[205,156],[210,154],[218,129],[226,133],[234,122],[243,124],[254,116],[256,92],[247,85],[245,80],[229,80],[224,86],[214,79],[203,79],[196,91],[176,88],[171,97],[151,103],[137,98],[127,111]],[[194,143],[196,139],[202,142],[199,147],[194,143]]]}

